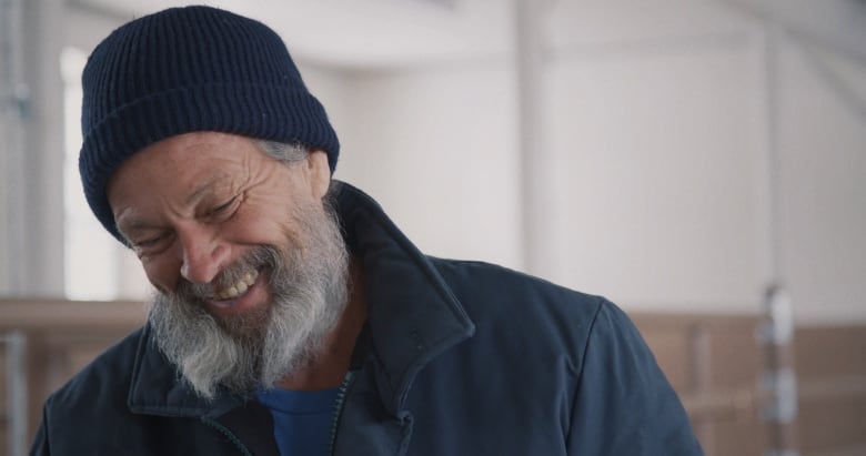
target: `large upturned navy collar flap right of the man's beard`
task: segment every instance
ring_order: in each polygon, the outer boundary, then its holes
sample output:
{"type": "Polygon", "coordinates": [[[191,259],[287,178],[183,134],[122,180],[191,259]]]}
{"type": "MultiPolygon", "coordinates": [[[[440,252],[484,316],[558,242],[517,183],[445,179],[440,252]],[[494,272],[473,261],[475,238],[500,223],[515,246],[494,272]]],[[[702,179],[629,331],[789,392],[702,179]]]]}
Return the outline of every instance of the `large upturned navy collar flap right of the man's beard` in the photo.
{"type": "Polygon", "coordinates": [[[415,374],[471,337],[475,326],[439,271],[379,204],[346,183],[336,184],[346,244],[363,259],[379,392],[396,415],[415,374]]]}

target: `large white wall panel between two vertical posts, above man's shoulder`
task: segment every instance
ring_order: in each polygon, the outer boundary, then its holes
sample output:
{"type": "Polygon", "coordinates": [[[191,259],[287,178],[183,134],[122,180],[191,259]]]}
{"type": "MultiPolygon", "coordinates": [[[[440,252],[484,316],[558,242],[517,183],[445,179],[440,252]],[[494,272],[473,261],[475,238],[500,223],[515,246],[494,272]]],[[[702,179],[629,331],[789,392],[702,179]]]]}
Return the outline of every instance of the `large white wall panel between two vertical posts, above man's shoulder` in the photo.
{"type": "Polygon", "coordinates": [[[633,307],[755,305],[763,121],[747,44],[571,58],[552,68],[572,286],[633,307]]]}

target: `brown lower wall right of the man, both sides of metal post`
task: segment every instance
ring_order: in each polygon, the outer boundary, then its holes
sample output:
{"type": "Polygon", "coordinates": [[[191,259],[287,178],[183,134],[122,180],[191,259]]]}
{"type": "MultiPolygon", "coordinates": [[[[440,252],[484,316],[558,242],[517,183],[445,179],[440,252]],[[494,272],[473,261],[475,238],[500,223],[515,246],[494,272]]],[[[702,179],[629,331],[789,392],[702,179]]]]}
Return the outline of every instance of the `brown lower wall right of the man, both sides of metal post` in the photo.
{"type": "MultiPolygon", "coordinates": [[[[633,314],[681,395],[707,456],[759,456],[764,352],[758,316],[633,314]]],[[[793,343],[803,456],[866,454],[866,325],[798,326],[793,343]]]]}

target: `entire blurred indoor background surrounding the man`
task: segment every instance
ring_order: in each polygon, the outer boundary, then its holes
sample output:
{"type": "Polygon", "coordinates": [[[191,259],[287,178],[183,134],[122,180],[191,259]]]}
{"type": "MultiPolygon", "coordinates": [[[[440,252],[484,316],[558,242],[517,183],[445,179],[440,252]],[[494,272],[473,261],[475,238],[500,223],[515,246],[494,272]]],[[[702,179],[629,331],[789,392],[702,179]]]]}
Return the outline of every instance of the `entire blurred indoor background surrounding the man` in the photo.
{"type": "MultiPolygon", "coordinates": [[[[334,178],[422,251],[632,314],[708,455],[866,454],[866,1],[202,2],[283,37],[334,178]]],[[[180,4],[0,0],[0,454],[143,318],[78,180],[80,73],[180,4]]]]}

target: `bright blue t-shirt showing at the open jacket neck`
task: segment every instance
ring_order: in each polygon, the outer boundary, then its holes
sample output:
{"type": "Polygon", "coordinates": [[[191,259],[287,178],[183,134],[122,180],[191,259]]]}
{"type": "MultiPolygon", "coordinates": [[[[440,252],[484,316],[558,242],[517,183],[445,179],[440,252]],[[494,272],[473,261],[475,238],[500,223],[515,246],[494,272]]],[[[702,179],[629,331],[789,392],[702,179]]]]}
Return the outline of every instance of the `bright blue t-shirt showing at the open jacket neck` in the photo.
{"type": "Polygon", "coordinates": [[[340,388],[290,391],[274,388],[256,393],[271,409],[273,435],[281,456],[324,456],[331,438],[331,423],[340,388]]]}

